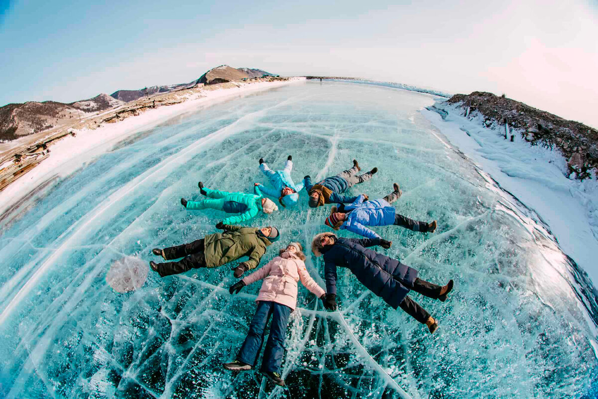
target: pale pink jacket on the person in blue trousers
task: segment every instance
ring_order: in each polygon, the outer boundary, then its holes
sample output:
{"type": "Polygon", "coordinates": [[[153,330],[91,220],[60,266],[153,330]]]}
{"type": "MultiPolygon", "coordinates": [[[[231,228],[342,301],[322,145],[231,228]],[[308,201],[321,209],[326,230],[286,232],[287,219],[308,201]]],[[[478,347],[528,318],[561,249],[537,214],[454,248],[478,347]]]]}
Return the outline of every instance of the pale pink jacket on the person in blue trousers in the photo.
{"type": "Polygon", "coordinates": [[[305,268],[305,263],[294,253],[283,252],[266,263],[263,268],[243,278],[243,282],[249,284],[264,279],[258,300],[270,300],[271,302],[286,305],[292,310],[297,306],[297,281],[301,280],[308,290],[317,297],[325,294],[322,287],[313,281],[305,268]]]}

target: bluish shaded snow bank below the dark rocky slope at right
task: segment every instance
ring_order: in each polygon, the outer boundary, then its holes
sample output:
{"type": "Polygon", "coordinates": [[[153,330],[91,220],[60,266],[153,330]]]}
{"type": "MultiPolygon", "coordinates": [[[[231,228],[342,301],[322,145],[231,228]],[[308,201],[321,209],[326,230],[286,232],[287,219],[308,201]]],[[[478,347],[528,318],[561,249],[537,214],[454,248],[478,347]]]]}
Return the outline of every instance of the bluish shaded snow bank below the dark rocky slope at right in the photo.
{"type": "Polygon", "coordinates": [[[509,142],[504,133],[486,128],[480,113],[465,117],[459,105],[443,106],[443,111],[445,118],[428,109],[421,112],[501,188],[533,210],[563,252],[591,281],[598,281],[598,182],[568,179],[560,152],[531,146],[519,137],[509,142]]]}

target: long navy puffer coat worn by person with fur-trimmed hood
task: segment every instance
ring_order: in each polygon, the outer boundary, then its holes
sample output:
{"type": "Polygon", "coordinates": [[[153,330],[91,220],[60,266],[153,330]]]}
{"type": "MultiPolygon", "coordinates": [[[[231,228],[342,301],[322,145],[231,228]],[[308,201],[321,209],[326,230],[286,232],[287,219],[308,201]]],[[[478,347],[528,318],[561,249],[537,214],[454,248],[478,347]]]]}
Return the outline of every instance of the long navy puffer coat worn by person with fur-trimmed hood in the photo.
{"type": "Polygon", "coordinates": [[[380,238],[338,238],[334,245],[322,249],[326,292],[336,294],[337,266],[349,269],[361,284],[398,308],[410,291],[417,270],[383,254],[367,249],[380,245],[380,238]]]}

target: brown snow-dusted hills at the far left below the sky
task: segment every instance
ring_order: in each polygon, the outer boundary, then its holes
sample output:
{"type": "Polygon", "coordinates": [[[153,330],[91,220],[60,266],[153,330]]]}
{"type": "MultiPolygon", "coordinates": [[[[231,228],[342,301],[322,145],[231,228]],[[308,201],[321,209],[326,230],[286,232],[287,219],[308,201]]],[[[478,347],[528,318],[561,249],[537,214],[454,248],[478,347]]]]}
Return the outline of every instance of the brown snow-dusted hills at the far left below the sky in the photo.
{"type": "Polygon", "coordinates": [[[0,140],[14,140],[61,125],[70,125],[88,113],[124,103],[108,94],[74,103],[54,101],[14,103],[0,107],[0,140]]]}

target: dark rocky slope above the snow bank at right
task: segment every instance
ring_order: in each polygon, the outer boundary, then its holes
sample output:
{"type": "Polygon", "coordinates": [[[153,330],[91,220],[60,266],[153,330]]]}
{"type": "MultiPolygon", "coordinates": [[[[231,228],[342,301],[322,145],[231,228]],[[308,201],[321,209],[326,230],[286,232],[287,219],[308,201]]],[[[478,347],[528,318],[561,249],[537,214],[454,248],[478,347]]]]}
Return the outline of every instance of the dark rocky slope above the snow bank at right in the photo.
{"type": "Polygon", "coordinates": [[[505,130],[508,124],[531,145],[558,148],[579,179],[589,177],[591,170],[598,173],[598,130],[594,128],[484,91],[455,94],[447,103],[460,106],[465,115],[479,112],[487,127],[505,130]]]}

